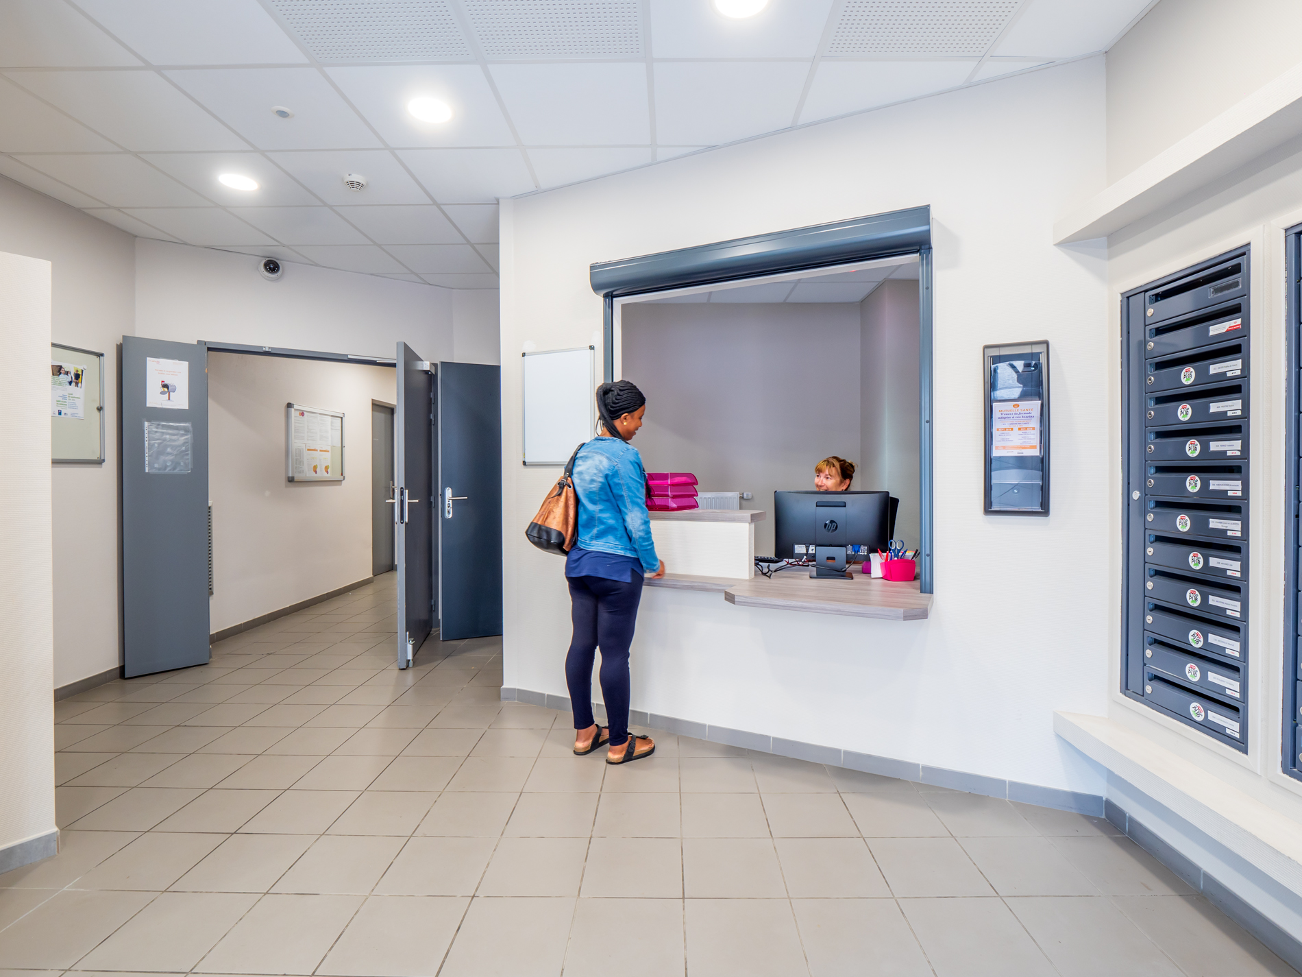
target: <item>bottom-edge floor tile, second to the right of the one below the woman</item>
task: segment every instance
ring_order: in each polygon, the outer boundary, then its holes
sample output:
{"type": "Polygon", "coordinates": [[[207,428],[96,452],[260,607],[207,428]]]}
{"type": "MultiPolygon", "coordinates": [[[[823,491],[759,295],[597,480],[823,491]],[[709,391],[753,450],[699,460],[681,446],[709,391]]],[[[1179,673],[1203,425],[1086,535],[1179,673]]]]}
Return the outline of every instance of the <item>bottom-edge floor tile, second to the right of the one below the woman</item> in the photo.
{"type": "Polygon", "coordinates": [[[810,977],[932,977],[893,899],[793,899],[810,977]]]}

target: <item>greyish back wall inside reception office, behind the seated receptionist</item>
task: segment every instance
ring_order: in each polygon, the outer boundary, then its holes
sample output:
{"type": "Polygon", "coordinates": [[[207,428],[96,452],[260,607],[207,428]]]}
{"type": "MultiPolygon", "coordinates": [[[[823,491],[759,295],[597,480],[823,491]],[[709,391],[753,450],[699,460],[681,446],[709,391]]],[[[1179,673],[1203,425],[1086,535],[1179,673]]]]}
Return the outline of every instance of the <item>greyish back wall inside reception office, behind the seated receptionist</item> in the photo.
{"type": "Polygon", "coordinates": [[[812,488],[828,455],[858,457],[858,305],[630,302],[621,319],[620,375],[647,396],[634,442],[647,470],[753,492],[742,508],[768,512],[755,552],[773,555],[773,491],[812,488]]]}

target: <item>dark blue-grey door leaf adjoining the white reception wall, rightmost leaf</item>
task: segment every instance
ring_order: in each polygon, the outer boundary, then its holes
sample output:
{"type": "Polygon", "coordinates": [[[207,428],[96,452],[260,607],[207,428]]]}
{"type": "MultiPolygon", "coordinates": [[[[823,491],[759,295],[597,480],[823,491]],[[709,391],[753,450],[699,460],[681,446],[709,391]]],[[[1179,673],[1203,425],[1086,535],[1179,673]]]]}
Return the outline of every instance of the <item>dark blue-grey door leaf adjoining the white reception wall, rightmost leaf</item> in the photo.
{"type": "Polygon", "coordinates": [[[439,637],[501,634],[501,367],[439,363],[439,637]]]}

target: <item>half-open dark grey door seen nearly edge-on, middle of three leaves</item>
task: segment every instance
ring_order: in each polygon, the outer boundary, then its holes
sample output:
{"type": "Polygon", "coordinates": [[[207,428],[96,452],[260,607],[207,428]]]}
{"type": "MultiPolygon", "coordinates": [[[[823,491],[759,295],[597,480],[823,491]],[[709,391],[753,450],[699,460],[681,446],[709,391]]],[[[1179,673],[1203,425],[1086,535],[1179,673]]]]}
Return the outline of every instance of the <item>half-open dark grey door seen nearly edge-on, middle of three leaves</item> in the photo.
{"type": "Polygon", "coordinates": [[[397,444],[398,668],[406,668],[434,627],[434,374],[398,343],[397,444]]]}

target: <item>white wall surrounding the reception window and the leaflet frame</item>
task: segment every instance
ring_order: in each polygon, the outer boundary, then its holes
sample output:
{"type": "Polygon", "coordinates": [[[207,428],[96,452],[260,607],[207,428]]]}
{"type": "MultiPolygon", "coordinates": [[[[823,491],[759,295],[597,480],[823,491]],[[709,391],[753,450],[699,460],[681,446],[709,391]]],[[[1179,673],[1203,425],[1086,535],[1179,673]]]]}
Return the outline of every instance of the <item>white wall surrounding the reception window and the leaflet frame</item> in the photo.
{"type": "MultiPolygon", "coordinates": [[[[1116,333],[1103,255],[1049,228],[1104,182],[1103,59],[506,202],[503,362],[586,344],[602,326],[595,261],[931,205],[935,246],[936,599],[926,621],[738,610],[648,591],[634,709],[792,740],[1101,793],[1053,735],[1053,710],[1107,707],[1098,410],[1116,333]],[[1052,310],[1047,314],[1046,310],[1052,310]],[[982,344],[1048,339],[1053,515],[984,517],[982,344]],[[1065,560],[1062,554],[1073,554],[1065,560]]],[[[565,694],[560,563],[522,528],[555,470],[522,469],[519,375],[503,375],[505,685],[565,694]]]]}

